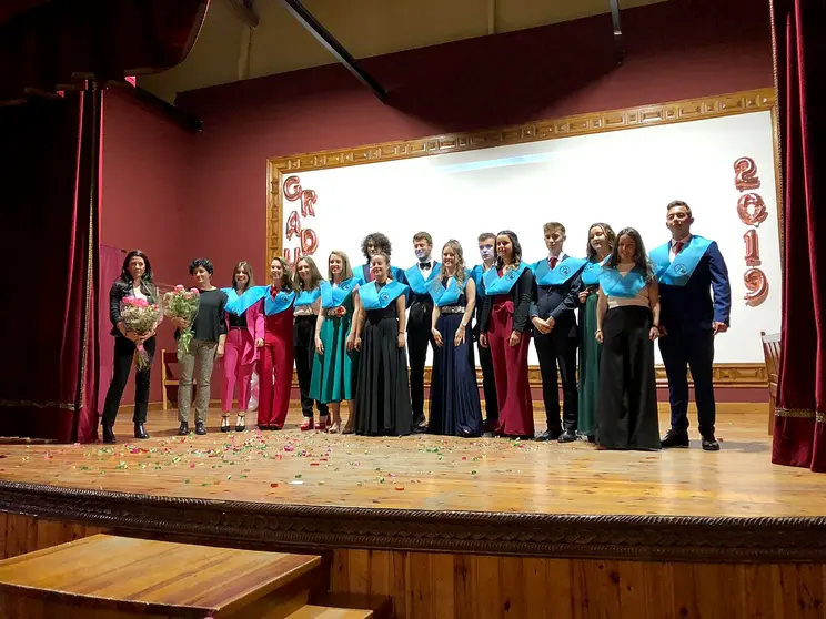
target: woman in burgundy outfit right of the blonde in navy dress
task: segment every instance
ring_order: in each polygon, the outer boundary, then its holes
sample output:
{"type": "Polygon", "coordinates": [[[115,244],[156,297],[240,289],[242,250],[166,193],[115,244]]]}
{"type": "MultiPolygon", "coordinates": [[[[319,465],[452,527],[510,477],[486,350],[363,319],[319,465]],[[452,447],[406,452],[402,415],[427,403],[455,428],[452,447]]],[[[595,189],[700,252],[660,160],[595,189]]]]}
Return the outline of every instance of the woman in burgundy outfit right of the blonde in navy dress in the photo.
{"type": "Polygon", "coordinates": [[[515,233],[496,235],[496,265],[482,277],[484,303],[479,317],[480,344],[491,348],[500,417],[496,433],[533,438],[533,404],[527,379],[527,351],[534,276],[522,261],[515,233]]]}

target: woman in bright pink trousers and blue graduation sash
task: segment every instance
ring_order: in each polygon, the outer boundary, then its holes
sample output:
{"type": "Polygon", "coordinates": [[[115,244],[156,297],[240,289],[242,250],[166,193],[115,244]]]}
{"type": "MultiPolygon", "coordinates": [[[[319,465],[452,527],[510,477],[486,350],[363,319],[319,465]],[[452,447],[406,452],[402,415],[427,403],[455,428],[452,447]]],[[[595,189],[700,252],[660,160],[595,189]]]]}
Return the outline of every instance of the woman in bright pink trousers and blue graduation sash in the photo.
{"type": "Polygon", "coordinates": [[[221,432],[230,432],[230,413],[238,383],[238,418],[235,432],[246,429],[244,417],[250,404],[250,380],[258,361],[258,351],[264,345],[262,300],[266,286],[255,286],[252,266],[241,261],[232,272],[232,286],[226,293],[226,344],[223,357],[223,392],[221,397],[221,432]]]}

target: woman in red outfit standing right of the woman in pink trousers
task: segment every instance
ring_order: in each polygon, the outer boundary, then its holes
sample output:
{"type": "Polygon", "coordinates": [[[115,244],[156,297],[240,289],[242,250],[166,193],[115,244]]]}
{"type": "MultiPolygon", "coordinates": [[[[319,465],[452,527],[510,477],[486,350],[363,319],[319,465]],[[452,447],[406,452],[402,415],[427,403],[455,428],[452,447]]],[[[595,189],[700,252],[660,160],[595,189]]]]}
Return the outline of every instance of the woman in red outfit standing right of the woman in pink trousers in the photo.
{"type": "Polygon", "coordinates": [[[264,295],[264,342],[259,351],[259,428],[284,427],[290,408],[293,362],[293,303],[290,266],[284,258],[270,263],[272,285],[264,295]],[[274,375],[274,384],[273,384],[274,375]],[[273,393],[274,392],[274,393],[273,393]]]}

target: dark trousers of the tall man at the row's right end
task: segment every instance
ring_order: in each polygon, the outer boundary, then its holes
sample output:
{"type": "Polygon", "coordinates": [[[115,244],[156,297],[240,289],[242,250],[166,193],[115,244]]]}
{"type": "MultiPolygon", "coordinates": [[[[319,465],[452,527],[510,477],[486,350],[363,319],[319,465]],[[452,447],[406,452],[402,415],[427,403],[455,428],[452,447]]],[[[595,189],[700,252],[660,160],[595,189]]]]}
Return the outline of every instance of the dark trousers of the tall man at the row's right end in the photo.
{"type": "Polygon", "coordinates": [[[699,434],[714,434],[717,407],[714,402],[714,333],[712,331],[668,331],[659,338],[659,352],[668,378],[672,427],[688,428],[688,376],[692,369],[697,402],[699,434]]]}

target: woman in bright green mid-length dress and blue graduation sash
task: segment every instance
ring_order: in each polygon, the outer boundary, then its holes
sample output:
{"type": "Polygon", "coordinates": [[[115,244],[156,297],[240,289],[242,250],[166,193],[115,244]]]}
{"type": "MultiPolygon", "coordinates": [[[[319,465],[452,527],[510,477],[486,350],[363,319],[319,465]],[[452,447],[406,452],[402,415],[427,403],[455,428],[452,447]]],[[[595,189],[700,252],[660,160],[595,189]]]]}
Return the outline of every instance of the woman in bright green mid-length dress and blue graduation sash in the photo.
{"type": "Polygon", "coordinates": [[[342,432],[341,402],[347,400],[350,417],[344,433],[353,430],[355,417],[355,321],[361,311],[359,277],[353,276],[350,258],[333,251],[328,258],[329,282],[321,282],[321,312],[315,323],[315,358],[310,397],[330,405],[330,432],[342,432]]]}

